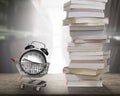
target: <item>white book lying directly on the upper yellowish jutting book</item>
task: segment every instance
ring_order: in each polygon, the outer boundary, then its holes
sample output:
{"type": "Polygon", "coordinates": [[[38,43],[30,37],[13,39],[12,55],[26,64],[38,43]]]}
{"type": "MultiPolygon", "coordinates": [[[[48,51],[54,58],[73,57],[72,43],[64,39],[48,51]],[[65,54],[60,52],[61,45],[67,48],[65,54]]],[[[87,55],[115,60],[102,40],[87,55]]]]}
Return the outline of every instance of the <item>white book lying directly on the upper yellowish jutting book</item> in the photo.
{"type": "Polygon", "coordinates": [[[68,12],[67,18],[72,17],[104,17],[103,12],[68,12]]]}

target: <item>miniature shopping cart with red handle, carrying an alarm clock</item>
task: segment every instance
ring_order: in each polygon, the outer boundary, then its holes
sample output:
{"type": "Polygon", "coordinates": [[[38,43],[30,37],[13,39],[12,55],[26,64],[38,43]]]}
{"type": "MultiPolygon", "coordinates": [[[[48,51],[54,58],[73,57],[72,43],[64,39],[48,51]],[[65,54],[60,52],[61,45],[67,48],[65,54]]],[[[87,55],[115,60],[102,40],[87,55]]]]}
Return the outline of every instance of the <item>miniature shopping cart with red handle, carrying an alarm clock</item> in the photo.
{"type": "Polygon", "coordinates": [[[20,88],[24,89],[26,86],[33,86],[36,91],[39,91],[47,84],[46,81],[37,78],[46,75],[48,72],[49,63],[45,56],[49,53],[45,48],[45,44],[38,41],[33,41],[30,45],[27,45],[25,50],[27,51],[21,55],[19,60],[15,58],[10,60],[16,64],[21,75],[20,88]],[[35,43],[39,43],[44,47],[35,47],[35,43]],[[26,78],[29,78],[29,80],[26,80],[26,78]]]}

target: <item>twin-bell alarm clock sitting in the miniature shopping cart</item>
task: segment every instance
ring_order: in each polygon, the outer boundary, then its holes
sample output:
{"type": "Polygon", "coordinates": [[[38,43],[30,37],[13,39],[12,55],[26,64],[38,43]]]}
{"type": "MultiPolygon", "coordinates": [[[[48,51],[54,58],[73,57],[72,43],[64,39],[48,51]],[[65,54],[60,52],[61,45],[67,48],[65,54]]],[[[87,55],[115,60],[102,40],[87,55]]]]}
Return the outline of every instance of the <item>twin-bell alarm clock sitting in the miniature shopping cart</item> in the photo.
{"type": "Polygon", "coordinates": [[[33,41],[25,47],[26,52],[19,59],[19,66],[22,72],[31,76],[42,76],[48,71],[46,56],[49,55],[44,43],[33,41]],[[35,46],[35,43],[43,45],[42,48],[35,46]]]}

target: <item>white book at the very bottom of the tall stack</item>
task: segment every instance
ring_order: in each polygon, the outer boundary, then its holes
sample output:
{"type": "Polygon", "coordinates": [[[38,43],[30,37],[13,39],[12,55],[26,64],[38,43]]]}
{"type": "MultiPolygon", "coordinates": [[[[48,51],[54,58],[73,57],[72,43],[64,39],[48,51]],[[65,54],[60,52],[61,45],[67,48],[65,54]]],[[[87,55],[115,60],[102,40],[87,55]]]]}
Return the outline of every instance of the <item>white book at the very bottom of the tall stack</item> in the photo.
{"type": "Polygon", "coordinates": [[[102,80],[100,81],[67,81],[68,87],[103,87],[102,80]]]}

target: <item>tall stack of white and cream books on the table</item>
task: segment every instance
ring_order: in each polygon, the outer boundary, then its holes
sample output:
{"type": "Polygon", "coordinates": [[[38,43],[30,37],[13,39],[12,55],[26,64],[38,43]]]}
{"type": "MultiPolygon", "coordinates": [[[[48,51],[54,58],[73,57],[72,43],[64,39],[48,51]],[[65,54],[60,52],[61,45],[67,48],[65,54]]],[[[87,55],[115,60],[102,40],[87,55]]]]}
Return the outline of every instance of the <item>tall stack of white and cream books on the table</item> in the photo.
{"type": "Polygon", "coordinates": [[[72,41],[68,44],[69,66],[66,73],[68,87],[102,87],[102,75],[109,71],[110,51],[105,33],[104,10],[107,0],[70,0],[64,4],[67,12],[63,25],[68,25],[72,41]]]}

